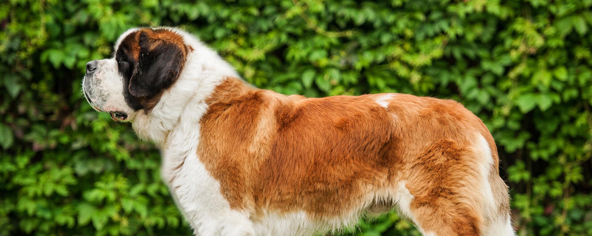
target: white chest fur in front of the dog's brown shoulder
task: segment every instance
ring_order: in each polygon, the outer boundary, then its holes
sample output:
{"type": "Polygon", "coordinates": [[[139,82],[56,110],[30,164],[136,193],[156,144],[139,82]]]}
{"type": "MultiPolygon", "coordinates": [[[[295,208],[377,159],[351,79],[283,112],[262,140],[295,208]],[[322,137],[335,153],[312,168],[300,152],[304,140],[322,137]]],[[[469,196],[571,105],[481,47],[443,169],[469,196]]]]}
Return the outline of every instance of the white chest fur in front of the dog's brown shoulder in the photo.
{"type": "Polygon", "coordinates": [[[254,235],[244,212],[230,208],[220,193],[220,183],[197,156],[199,118],[205,104],[190,104],[166,138],[162,150],[162,177],[196,235],[254,235]]]}

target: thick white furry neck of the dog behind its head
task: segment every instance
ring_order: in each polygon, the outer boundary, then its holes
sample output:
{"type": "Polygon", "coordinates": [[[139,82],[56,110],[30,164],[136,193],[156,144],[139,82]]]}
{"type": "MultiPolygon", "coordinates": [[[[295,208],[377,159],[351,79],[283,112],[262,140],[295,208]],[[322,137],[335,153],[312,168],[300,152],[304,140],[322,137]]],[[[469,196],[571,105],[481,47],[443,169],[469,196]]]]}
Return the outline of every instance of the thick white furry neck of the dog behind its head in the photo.
{"type": "Polygon", "coordinates": [[[138,137],[152,141],[160,148],[168,145],[170,132],[183,117],[199,122],[208,109],[206,100],[217,85],[226,77],[239,77],[236,70],[214,50],[191,35],[184,37],[193,50],[187,57],[179,79],[163,92],[152,111],[140,110],[132,121],[138,137]]]}

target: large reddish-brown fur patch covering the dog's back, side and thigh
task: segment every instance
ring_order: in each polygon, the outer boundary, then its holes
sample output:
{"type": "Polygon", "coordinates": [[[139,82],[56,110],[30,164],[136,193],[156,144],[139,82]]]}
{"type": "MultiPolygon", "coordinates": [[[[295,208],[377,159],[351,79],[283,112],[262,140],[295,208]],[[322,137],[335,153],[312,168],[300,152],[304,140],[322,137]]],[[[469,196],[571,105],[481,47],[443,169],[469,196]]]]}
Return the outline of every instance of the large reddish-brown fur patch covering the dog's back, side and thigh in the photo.
{"type": "Polygon", "coordinates": [[[471,147],[481,134],[507,213],[495,144],[480,119],[455,101],[396,94],[387,109],[381,96],[285,96],[227,78],[207,100],[197,154],[231,208],[255,221],[267,211],[321,219],[392,209],[371,196],[405,180],[427,231],[477,235],[484,218],[471,193],[479,177],[471,147]]]}

